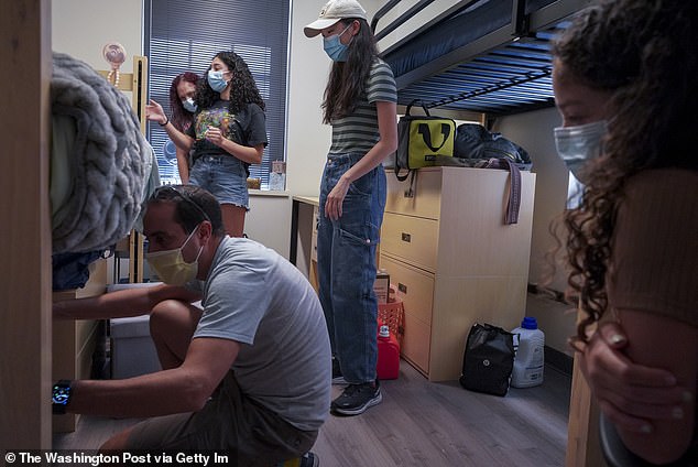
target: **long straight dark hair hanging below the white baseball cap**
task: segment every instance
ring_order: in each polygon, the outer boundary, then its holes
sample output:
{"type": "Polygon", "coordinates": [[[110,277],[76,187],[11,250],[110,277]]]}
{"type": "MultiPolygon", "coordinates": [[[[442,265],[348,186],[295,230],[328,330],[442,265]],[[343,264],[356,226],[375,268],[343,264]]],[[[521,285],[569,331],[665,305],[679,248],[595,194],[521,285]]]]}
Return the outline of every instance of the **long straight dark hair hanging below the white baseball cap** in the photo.
{"type": "Polygon", "coordinates": [[[346,28],[353,21],[358,21],[360,28],[349,44],[347,61],[332,63],[329,73],[323,98],[324,123],[351,113],[358,99],[366,93],[366,80],[378,57],[375,39],[366,20],[348,18],[340,22],[346,28]]]}

